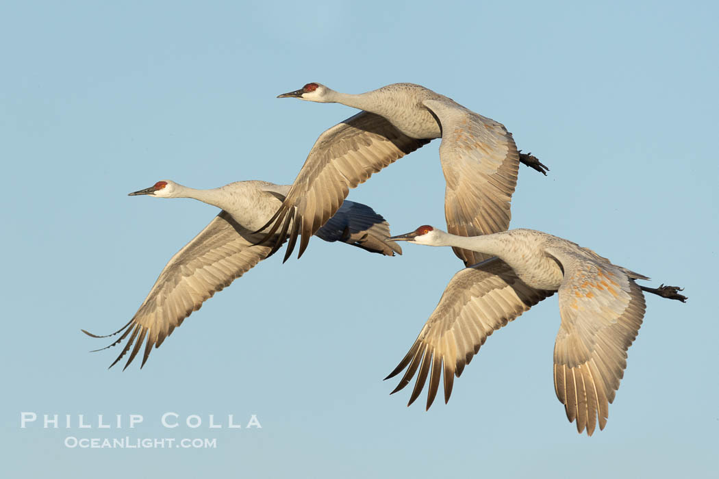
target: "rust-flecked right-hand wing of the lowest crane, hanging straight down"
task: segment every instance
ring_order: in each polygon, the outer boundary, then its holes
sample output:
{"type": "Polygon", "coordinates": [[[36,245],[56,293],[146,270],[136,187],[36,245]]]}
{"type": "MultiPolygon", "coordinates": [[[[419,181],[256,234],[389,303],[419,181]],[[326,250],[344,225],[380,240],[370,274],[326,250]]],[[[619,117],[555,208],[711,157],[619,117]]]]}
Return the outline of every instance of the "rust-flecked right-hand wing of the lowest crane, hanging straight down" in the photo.
{"type": "MultiPolygon", "coordinates": [[[[591,254],[548,249],[564,268],[562,325],[554,344],[554,390],[577,432],[604,429],[645,303],[625,271],[591,254]]],[[[641,275],[639,275],[641,276],[641,275]]]]}

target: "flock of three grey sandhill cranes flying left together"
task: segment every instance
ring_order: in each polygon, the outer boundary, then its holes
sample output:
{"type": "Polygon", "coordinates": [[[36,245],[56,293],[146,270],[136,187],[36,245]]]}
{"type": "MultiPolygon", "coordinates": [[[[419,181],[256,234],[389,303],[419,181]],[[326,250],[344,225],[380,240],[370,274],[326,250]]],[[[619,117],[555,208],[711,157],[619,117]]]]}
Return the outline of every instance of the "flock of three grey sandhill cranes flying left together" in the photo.
{"type": "MultiPolygon", "coordinates": [[[[285,243],[285,261],[299,239],[298,257],[311,236],[367,251],[401,254],[396,241],[452,246],[464,261],[447,285],[415,343],[388,376],[406,369],[399,391],[417,376],[409,404],[429,379],[429,409],[444,377],[444,401],[454,376],[477,354],[487,336],[542,299],[559,292],[562,323],[554,345],[554,387],[577,431],[603,429],[626,368],[627,350],[644,317],[642,291],[684,302],[678,287],[649,288],[649,279],[612,264],[594,251],[540,231],[509,230],[510,200],[519,164],[546,175],[548,168],[522,154],[505,127],[451,98],[412,83],[395,83],[359,95],[319,83],[278,98],[342,103],[362,110],[319,136],[293,185],[234,182],[195,190],[170,180],[130,193],[190,197],[221,213],[178,251],[145,301],[107,346],[126,341],[114,363],[125,368],[145,349],[159,348],[183,320],[215,292],[229,286],[285,243]],[[350,188],[372,173],[441,138],[446,180],[447,231],[423,225],[390,237],[389,225],[372,208],[345,200],[350,188]]],[[[106,348],[103,348],[106,349],[106,348]]],[[[409,405],[408,404],[408,405],[409,405]]]]}

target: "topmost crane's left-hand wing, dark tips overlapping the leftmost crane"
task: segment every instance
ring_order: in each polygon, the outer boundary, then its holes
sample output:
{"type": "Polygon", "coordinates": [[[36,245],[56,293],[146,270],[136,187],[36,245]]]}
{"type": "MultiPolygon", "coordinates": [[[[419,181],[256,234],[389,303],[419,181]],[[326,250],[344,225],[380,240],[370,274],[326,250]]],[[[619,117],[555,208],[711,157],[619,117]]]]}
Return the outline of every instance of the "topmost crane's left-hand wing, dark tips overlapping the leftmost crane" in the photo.
{"type": "Polygon", "coordinates": [[[339,209],[349,188],[427,143],[367,111],[333,126],[319,136],[282,206],[262,227],[270,227],[263,241],[274,239],[277,251],[289,234],[287,260],[301,235],[298,257],[302,256],[310,236],[339,209]]]}

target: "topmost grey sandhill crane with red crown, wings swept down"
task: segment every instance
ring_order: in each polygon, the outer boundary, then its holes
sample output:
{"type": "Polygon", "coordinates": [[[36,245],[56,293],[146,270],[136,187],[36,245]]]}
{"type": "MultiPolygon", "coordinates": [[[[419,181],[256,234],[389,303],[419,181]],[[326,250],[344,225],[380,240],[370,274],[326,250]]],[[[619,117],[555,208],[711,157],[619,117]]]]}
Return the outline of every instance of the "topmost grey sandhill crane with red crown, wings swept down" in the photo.
{"type": "MultiPolygon", "coordinates": [[[[349,95],[308,83],[278,98],[342,103],[364,110],[319,136],[282,207],[267,223],[272,224],[272,233],[280,228],[290,233],[285,261],[298,234],[298,257],[302,256],[310,236],[339,208],[349,188],[431,139],[442,138],[444,212],[452,233],[475,236],[505,231],[519,162],[546,175],[544,164],[517,151],[502,124],[421,85],[395,83],[349,95]]],[[[462,248],[454,248],[454,253],[465,265],[485,259],[462,248]]]]}

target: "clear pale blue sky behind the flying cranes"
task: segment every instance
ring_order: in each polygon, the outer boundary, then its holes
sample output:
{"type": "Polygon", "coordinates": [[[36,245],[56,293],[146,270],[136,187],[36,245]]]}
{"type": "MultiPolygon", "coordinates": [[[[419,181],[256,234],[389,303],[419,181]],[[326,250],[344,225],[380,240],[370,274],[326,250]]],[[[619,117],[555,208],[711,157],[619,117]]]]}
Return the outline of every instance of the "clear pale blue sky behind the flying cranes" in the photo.
{"type": "MultiPolygon", "coordinates": [[[[710,477],[719,473],[713,2],[6,2],[0,6],[5,254],[4,477],[710,477]],[[275,99],[319,81],[421,83],[501,121],[551,172],[521,168],[513,227],[536,228],[686,287],[648,297],[604,431],[554,395],[557,299],[495,333],[448,405],[382,381],[461,264],[313,240],[194,313],[142,371],[106,370],[116,330],[216,214],[127,197],[291,182],[354,114],[275,99]],[[421,401],[419,401],[421,403],[421,401]],[[130,429],[19,429],[20,411],[143,414],[130,429]],[[257,414],[262,429],[159,417],[257,414]],[[79,450],[76,437],[209,437],[208,450],[79,450]]],[[[350,194],[396,233],[444,226],[435,141],[350,194]]],[[[242,419],[244,418],[244,419],[242,419]]]]}

